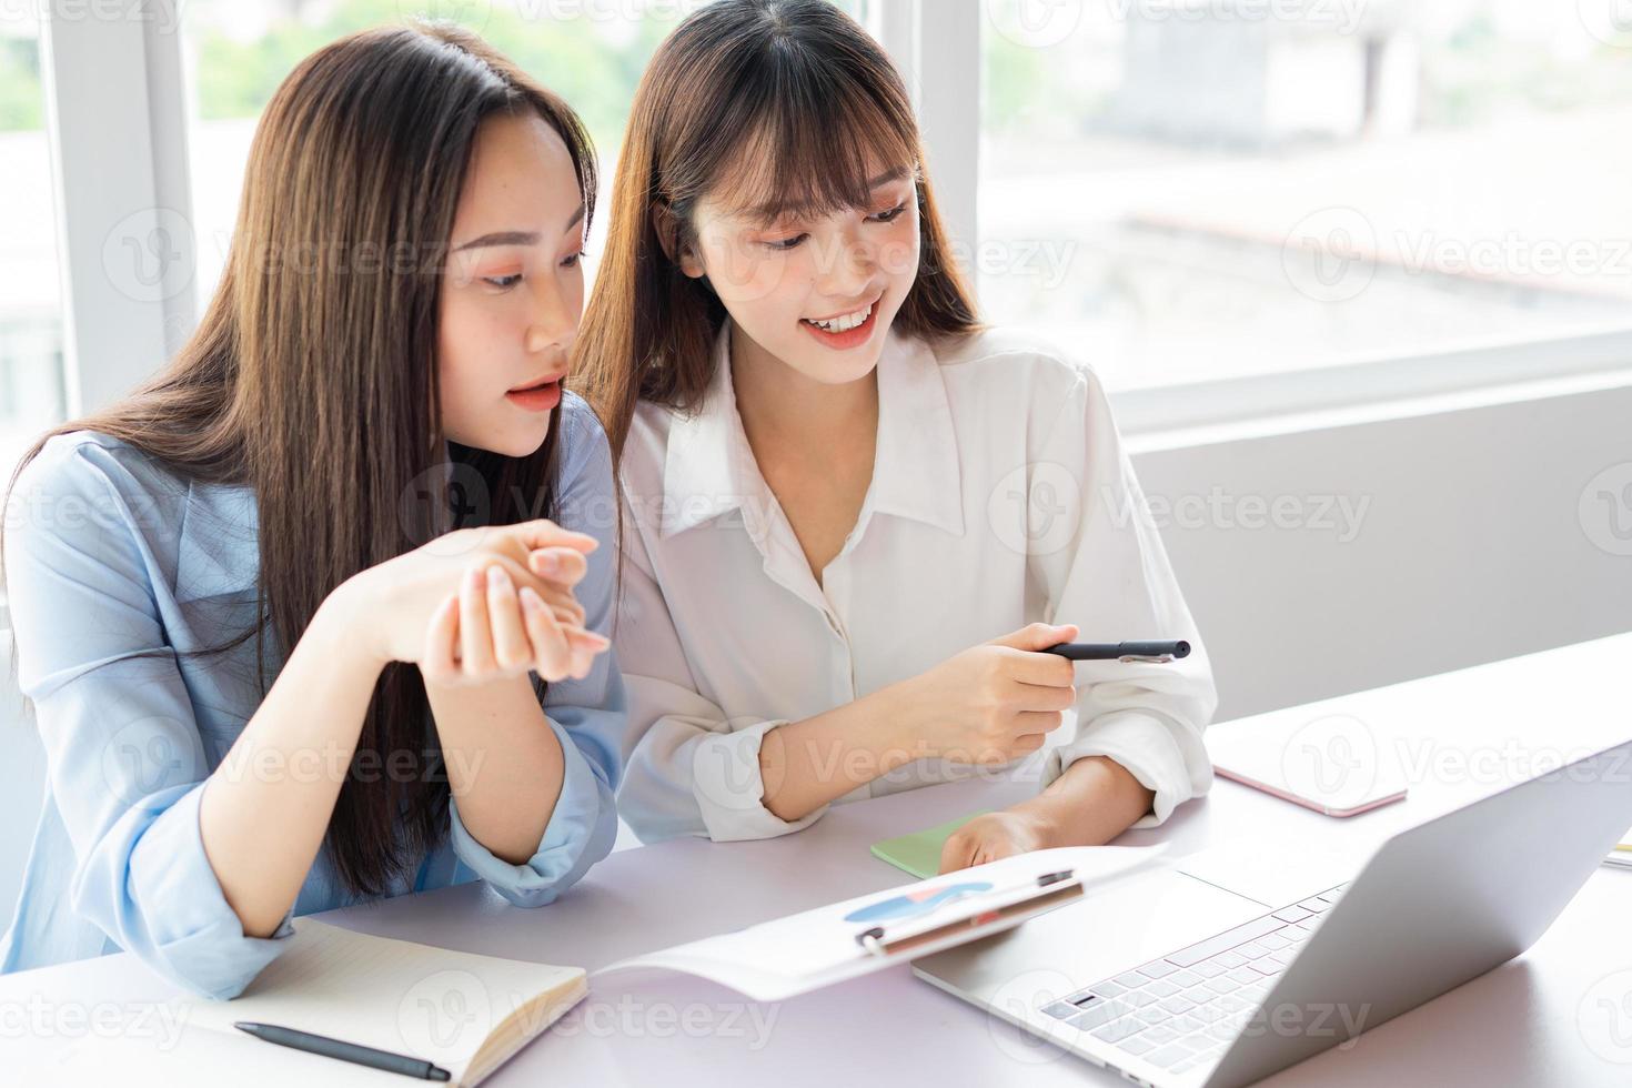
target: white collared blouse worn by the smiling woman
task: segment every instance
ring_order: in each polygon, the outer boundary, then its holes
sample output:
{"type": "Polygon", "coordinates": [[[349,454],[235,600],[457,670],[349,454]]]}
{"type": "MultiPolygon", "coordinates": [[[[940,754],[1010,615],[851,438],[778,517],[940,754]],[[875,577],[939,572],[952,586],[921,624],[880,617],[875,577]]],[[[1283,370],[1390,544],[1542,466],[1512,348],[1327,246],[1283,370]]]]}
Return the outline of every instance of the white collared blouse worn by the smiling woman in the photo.
{"type": "MultiPolygon", "coordinates": [[[[1136,827],[1206,793],[1216,706],[1195,621],[1093,372],[1012,331],[935,351],[891,333],[878,362],[873,480],[840,553],[811,574],[731,388],[730,323],[694,413],[643,403],[622,462],[614,628],[628,687],[619,811],[646,842],[769,838],[769,729],[906,680],[1033,621],[1082,641],[1183,638],[1172,664],[1077,664],[1079,698],[1040,786],[1106,755],[1155,793],[1136,827]]],[[[920,759],[839,803],[989,773],[920,759]]]]}

